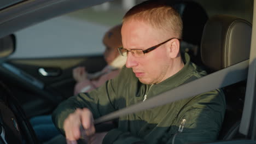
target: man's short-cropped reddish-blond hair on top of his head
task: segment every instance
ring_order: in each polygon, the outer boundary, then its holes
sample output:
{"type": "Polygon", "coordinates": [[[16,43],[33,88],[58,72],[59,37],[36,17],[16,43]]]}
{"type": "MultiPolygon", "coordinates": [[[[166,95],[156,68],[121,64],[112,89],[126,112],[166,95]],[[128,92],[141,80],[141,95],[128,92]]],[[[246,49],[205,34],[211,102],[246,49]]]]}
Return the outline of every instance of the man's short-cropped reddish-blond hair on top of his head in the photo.
{"type": "Polygon", "coordinates": [[[157,1],[142,2],[131,8],[125,14],[123,22],[138,20],[149,23],[152,27],[165,32],[165,35],[172,34],[173,37],[182,38],[182,19],[170,5],[157,1]]]}

